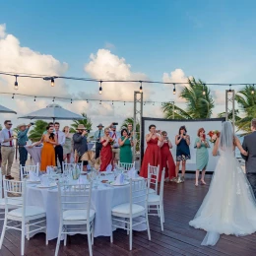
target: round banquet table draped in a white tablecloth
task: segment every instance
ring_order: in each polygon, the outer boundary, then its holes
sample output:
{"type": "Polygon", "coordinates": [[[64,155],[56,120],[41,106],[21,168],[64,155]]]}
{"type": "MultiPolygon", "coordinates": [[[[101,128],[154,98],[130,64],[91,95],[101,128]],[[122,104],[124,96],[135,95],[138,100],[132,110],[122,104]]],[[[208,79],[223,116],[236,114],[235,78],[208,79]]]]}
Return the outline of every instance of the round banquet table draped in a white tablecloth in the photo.
{"type": "MultiPolygon", "coordinates": [[[[100,176],[100,179],[113,180],[113,174],[100,176]]],[[[81,175],[78,180],[70,180],[69,184],[85,184],[87,176],[81,175]]],[[[59,230],[59,202],[58,189],[37,188],[37,184],[27,185],[27,205],[42,207],[46,212],[48,239],[58,237],[59,230]]],[[[110,236],[112,231],[111,209],[114,206],[128,203],[130,186],[111,186],[98,181],[98,186],[93,185],[92,208],[96,211],[95,237],[110,236]]],[[[135,230],[146,230],[146,224],[138,224],[135,230]]]]}

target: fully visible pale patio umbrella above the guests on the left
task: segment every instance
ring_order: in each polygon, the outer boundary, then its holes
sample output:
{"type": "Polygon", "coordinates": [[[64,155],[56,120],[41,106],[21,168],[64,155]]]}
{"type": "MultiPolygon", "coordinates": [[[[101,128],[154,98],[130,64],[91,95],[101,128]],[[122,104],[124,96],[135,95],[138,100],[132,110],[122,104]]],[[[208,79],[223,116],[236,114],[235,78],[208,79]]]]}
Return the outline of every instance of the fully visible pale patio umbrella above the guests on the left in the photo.
{"type": "Polygon", "coordinates": [[[52,119],[53,122],[55,120],[80,120],[85,117],[71,112],[58,104],[49,104],[46,107],[33,111],[24,116],[20,116],[19,118],[26,119],[52,119]]]}

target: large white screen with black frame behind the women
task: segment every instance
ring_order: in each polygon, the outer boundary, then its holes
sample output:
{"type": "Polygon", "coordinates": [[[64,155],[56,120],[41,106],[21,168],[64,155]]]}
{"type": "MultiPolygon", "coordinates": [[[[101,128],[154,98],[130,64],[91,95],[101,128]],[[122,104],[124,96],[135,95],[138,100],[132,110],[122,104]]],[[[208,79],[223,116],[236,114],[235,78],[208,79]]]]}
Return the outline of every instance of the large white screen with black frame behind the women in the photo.
{"type": "MultiPolygon", "coordinates": [[[[156,119],[150,117],[143,118],[143,133],[144,133],[144,152],[147,148],[147,143],[145,141],[145,135],[149,133],[149,126],[151,124],[155,124],[157,126],[157,130],[166,131],[169,140],[173,145],[173,149],[171,150],[171,154],[173,159],[176,159],[176,145],[175,145],[175,136],[178,134],[179,127],[182,125],[186,126],[187,134],[190,136],[191,144],[190,144],[190,155],[191,160],[187,160],[187,170],[196,170],[196,149],[194,148],[195,140],[197,138],[197,131],[199,128],[203,127],[206,131],[206,134],[211,130],[222,130],[222,122],[224,120],[221,118],[216,119],[205,119],[205,120],[167,120],[167,119],[156,119]]],[[[210,137],[207,135],[207,138],[210,137]]],[[[214,144],[210,143],[211,148],[209,149],[209,163],[207,167],[207,171],[214,171],[217,160],[219,157],[213,157],[212,151],[214,144]]]]}

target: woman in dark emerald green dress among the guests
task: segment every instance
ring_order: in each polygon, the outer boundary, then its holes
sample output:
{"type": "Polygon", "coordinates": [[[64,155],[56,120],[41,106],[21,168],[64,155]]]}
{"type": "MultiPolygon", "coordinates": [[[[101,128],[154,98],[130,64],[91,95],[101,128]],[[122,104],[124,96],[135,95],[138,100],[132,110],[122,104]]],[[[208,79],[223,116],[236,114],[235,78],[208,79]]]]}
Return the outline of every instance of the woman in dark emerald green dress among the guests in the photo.
{"type": "Polygon", "coordinates": [[[132,163],[133,156],[132,156],[132,141],[131,135],[128,136],[127,129],[122,129],[121,131],[121,138],[118,140],[118,144],[120,146],[120,162],[127,162],[132,163]]]}

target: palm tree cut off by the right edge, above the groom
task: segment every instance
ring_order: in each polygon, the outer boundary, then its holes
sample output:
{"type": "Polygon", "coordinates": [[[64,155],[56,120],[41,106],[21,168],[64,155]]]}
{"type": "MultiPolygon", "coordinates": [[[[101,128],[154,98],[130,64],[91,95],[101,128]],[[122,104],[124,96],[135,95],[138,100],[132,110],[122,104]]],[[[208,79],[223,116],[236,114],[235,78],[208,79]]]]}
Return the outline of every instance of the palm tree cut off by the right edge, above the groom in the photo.
{"type": "MultiPolygon", "coordinates": [[[[237,130],[245,131],[245,134],[251,132],[251,120],[256,116],[256,96],[254,94],[254,86],[245,86],[235,95],[235,100],[244,117],[241,117],[235,123],[237,130]]],[[[244,135],[245,135],[244,134],[244,135]]]]}

